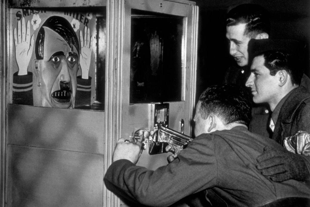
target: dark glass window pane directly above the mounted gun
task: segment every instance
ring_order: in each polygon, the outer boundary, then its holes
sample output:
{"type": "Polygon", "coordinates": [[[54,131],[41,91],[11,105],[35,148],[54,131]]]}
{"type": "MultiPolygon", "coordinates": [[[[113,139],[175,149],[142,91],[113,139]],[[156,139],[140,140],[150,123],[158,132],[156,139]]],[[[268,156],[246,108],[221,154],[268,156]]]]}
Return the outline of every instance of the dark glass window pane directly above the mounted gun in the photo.
{"type": "Polygon", "coordinates": [[[130,103],[181,101],[183,17],[131,14],[130,103]]]}

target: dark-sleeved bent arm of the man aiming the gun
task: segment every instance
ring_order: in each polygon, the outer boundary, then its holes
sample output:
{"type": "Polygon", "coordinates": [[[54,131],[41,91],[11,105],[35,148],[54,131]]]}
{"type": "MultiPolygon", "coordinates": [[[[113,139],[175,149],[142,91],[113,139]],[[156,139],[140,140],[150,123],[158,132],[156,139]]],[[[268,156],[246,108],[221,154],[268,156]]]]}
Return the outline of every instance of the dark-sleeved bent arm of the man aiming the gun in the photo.
{"type": "Polygon", "coordinates": [[[108,168],[104,183],[108,190],[131,202],[169,206],[185,196],[214,185],[216,172],[213,171],[213,164],[216,159],[213,152],[192,142],[179,153],[179,159],[155,171],[136,166],[128,160],[118,160],[108,168]],[[201,154],[202,149],[204,155],[201,154]]]}

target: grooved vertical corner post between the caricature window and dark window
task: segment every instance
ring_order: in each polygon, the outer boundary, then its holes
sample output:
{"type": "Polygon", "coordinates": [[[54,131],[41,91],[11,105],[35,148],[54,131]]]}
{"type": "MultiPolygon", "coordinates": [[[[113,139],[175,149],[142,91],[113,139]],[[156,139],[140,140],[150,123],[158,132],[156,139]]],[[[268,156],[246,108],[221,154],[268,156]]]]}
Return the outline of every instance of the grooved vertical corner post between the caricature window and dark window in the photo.
{"type": "MultiPolygon", "coordinates": [[[[105,74],[104,173],[112,163],[112,153],[121,136],[122,47],[124,0],[107,0],[107,58],[105,74]]],[[[103,206],[119,206],[117,196],[103,187],[103,206]]]]}

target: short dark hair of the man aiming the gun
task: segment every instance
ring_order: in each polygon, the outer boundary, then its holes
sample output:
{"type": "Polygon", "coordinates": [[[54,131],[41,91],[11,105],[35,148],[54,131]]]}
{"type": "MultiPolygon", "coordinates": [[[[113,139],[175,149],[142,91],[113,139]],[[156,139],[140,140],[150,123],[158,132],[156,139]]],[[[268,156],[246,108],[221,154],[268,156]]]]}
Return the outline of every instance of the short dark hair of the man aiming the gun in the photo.
{"type": "Polygon", "coordinates": [[[251,120],[250,92],[235,84],[213,85],[201,93],[199,112],[203,119],[210,113],[219,116],[224,124],[240,123],[249,126],[251,120]]]}

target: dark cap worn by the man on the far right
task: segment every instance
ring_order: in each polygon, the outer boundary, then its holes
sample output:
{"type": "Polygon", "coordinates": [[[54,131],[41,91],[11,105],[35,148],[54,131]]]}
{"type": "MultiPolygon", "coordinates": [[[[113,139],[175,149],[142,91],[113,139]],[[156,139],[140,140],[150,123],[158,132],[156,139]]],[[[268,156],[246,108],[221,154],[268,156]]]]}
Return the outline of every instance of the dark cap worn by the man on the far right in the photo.
{"type": "Polygon", "coordinates": [[[249,65],[254,57],[267,51],[286,52],[298,57],[303,50],[303,45],[293,39],[250,39],[248,44],[249,65]]]}

